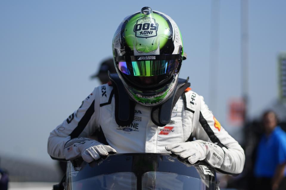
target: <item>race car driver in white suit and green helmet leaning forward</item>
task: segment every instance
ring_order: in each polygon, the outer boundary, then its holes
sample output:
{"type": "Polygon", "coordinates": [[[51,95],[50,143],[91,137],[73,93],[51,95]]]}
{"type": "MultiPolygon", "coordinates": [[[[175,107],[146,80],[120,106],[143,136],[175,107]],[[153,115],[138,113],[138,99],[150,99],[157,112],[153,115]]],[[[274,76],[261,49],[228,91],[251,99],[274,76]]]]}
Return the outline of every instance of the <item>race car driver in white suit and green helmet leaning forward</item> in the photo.
{"type": "Polygon", "coordinates": [[[92,162],[109,153],[172,152],[223,173],[242,172],[241,146],[188,79],[178,78],[185,54],[172,18],[143,7],[119,25],[112,50],[117,74],[50,133],[52,158],[92,162]],[[97,140],[88,138],[94,132],[97,140]]]}

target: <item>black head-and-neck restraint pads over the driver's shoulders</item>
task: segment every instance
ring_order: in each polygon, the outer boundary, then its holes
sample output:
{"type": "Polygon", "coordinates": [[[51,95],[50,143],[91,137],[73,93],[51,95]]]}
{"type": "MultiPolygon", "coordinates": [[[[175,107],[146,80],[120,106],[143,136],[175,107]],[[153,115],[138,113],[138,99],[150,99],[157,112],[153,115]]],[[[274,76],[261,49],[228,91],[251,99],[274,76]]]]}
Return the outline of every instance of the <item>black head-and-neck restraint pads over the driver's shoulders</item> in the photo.
{"type": "MultiPolygon", "coordinates": [[[[119,126],[130,125],[134,118],[136,102],[129,98],[129,95],[125,91],[124,85],[117,73],[109,73],[109,78],[114,88],[115,121],[119,126]]],[[[178,78],[178,83],[176,84],[171,96],[169,96],[169,98],[162,104],[152,107],[151,119],[154,124],[162,127],[170,123],[173,107],[186,88],[191,85],[188,83],[188,80],[189,77],[187,77],[187,79],[178,78]]]]}

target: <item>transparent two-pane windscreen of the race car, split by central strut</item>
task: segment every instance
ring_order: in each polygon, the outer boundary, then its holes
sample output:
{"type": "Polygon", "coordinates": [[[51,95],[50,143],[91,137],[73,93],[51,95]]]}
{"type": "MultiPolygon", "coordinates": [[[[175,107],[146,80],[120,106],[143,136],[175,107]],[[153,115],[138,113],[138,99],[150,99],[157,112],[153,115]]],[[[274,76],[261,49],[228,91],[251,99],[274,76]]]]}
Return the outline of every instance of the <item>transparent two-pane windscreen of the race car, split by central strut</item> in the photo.
{"type": "MultiPolygon", "coordinates": [[[[133,172],[116,172],[94,176],[68,184],[71,190],[136,190],[137,178],[133,172]]],[[[169,172],[145,172],[142,175],[142,190],[207,190],[215,187],[215,182],[169,172]]]]}

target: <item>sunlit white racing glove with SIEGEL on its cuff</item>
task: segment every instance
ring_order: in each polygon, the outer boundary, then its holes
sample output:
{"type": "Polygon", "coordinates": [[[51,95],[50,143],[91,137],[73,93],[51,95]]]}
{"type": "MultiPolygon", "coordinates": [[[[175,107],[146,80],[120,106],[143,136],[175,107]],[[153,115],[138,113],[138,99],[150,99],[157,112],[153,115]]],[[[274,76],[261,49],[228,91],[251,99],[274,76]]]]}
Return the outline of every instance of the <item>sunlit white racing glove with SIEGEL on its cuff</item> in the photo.
{"type": "Polygon", "coordinates": [[[177,154],[182,159],[188,159],[191,164],[205,160],[209,165],[220,168],[224,159],[224,151],[218,145],[203,140],[167,145],[167,151],[177,154]]]}

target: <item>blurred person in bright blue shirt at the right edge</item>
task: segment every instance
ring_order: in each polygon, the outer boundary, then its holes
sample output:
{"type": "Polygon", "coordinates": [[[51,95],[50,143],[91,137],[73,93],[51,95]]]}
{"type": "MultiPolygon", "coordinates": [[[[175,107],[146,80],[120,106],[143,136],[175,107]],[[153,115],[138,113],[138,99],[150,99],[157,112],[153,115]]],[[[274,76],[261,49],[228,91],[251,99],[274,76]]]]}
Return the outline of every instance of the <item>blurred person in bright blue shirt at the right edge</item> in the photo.
{"type": "Polygon", "coordinates": [[[254,166],[256,189],[286,189],[286,133],[277,126],[277,116],[266,111],[262,118],[262,135],[254,166]]]}

